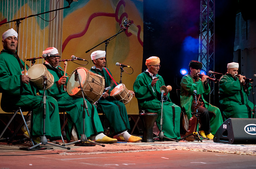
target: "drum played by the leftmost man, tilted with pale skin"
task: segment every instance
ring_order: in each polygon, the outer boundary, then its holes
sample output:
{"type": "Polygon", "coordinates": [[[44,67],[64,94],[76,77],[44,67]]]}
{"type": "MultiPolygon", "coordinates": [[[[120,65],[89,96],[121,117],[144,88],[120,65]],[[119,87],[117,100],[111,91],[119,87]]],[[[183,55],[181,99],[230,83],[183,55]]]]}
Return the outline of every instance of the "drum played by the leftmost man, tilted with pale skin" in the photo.
{"type": "Polygon", "coordinates": [[[43,64],[31,66],[28,70],[28,74],[31,77],[30,81],[33,82],[39,90],[44,90],[44,76],[47,77],[47,86],[45,90],[49,89],[54,84],[54,77],[43,64]]]}

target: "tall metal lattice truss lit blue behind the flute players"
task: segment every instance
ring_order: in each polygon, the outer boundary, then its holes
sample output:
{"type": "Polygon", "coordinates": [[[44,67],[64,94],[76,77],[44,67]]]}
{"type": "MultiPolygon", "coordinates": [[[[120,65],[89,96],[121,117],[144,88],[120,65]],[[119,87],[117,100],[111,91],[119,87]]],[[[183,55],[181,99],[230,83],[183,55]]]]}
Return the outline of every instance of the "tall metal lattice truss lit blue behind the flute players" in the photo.
{"type": "MultiPolygon", "coordinates": [[[[199,61],[203,63],[203,70],[209,75],[209,70],[214,71],[215,57],[215,0],[201,0],[200,6],[200,35],[199,35],[199,61]]],[[[214,82],[209,81],[211,94],[214,94],[214,82]]],[[[213,99],[214,101],[214,99],[213,99]]]]}

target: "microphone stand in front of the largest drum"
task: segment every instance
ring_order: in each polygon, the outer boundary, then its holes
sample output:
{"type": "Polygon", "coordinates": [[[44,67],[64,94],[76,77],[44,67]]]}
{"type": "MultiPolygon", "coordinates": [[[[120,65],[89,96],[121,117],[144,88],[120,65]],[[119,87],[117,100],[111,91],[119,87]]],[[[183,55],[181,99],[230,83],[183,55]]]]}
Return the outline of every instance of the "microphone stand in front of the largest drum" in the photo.
{"type": "MultiPolygon", "coordinates": [[[[78,78],[78,83],[79,83],[78,88],[80,88],[81,93],[82,93],[82,96],[83,96],[83,98],[84,98],[84,90],[83,90],[83,88],[82,88],[82,86],[81,86],[81,82],[80,82],[80,78],[79,78],[77,69],[75,70],[75,81],[76,81],[76,77],[78,78]]],[[[76,143],[81,142],[81,141],[82,141],[82,142],[86,142],[86,141],[87,141],[87,142],[90,142],[90,143],[92,143],[92,144],[97,144],[97,145],[99,145],[99,146],[104,147],[104,146],[105,146],[104,144],[99,144],[99,143],[96,143],[96,142],[94,142],[94,141],[89,141],[89,140],[87,140],[86,135],[85,135],[85,133],[84,133],[84,126],[85,126],[85,108],[86,108],[86,111],[87,111],[87,115],[90,116],[90,114],[89,114],[89,111],[88,111],[88,105],[87,105],[87,101],[85,100],[85,98],[84,98],[84,104],[81,104],[81,107],[83,107],[83,134],[81,134],[80,140],[78,140],[78,141],[73,141],[73,142],[70,142],[70,143],[67,143],[67,144],[62,144],[62,146],[67,146],[67,145],[69,145],[69,144],[76,144],[76,143]]],[[[91,118],[93,118],[93,117],[91,117],[91,118]]]]}

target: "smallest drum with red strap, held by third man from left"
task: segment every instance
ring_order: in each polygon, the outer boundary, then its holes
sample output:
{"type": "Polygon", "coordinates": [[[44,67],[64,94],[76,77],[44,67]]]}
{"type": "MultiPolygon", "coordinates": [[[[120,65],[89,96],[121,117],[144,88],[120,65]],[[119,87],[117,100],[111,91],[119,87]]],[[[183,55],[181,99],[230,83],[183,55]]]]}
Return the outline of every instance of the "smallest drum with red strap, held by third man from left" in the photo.
{"type": "Polygon", "coordinates": [[[129,103],[133,98],[133,94],[129,92],[125,85],[122,83],[113,88],[110,96],[114,97],[118,101],[122,101],[124,104],[129,103]]]}

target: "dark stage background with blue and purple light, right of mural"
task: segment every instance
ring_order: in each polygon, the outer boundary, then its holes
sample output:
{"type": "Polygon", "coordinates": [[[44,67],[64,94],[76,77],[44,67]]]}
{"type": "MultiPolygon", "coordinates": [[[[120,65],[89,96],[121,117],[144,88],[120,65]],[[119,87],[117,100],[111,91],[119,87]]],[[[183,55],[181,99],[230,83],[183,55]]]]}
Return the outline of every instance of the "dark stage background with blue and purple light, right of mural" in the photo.
{"type": "MultiPolygon", "coordinates": [[[[236,0],[215,0],[215,70],[227,72],[227,63],[233,61],[235,38],[236,0]]],[[[180,68],[187,68],[199,56],[200,0],[145,0],[144,1],[144,54],[146,59],[160,58],[159,75],[165,85],[171,85],[172,102],[180,104],[176,89],[180,89],[180,68]]],[[[216,78],[220,78],[216,76],[216,78]]],[[[218,84],[211,101],[218,106],[218,84]],[[215,97],[214,97],[215,95],[215,97]]]]}

